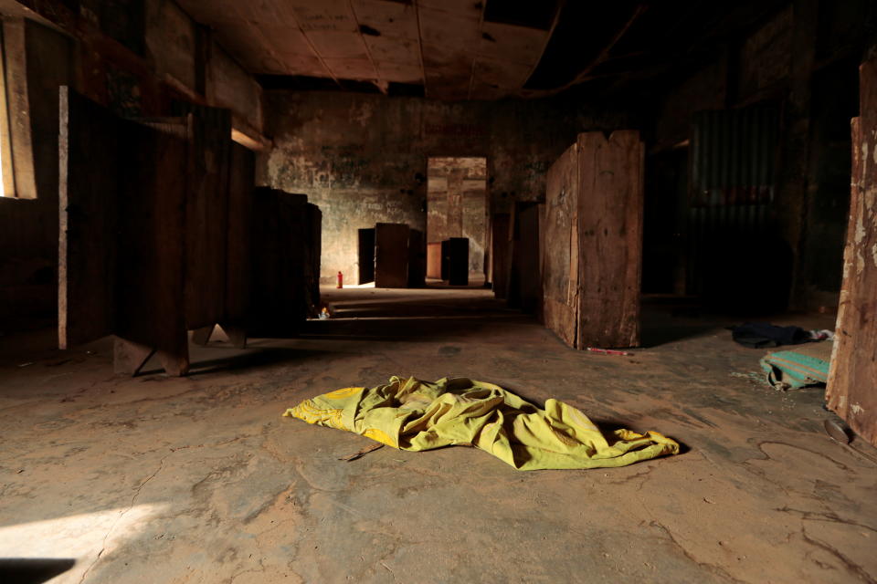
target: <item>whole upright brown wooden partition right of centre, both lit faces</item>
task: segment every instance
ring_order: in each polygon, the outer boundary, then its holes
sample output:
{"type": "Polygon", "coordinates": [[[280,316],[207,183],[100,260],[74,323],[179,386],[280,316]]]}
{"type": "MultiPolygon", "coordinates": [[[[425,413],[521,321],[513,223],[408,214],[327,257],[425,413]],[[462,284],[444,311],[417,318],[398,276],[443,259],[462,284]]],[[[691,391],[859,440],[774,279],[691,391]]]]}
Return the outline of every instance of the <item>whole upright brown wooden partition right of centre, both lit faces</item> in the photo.
{"type": "Polygon", "coordinates": [[[642,172],[635,130],[580,134],[548,171],[543,318],[576,349],[639,344],[642,172]]]}

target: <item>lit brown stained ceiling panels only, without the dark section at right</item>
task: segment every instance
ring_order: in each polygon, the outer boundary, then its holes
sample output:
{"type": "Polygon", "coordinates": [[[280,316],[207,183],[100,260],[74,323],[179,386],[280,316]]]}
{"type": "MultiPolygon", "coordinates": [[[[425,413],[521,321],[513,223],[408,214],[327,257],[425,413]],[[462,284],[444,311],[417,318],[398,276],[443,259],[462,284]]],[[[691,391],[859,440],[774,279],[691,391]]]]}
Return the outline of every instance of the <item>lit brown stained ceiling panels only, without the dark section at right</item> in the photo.
{"type": "Polygon", "coordinates": [[[516,94],[544,52],[554,1],[180,0],[264,76],[421,86],[430,98],[516,94]]]}

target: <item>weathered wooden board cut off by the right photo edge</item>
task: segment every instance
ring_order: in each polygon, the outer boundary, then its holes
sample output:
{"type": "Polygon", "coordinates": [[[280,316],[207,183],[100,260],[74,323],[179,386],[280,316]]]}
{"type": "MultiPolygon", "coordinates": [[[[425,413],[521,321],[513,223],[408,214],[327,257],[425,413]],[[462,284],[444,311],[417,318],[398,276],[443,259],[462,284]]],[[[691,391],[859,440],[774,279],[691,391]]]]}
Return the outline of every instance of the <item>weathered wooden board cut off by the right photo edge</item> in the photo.
{"type": "Polygon", "coordinates": [[[850,221],[826,400],[877,446],[877,59],[861,65],[852,121],[850,221]]]}

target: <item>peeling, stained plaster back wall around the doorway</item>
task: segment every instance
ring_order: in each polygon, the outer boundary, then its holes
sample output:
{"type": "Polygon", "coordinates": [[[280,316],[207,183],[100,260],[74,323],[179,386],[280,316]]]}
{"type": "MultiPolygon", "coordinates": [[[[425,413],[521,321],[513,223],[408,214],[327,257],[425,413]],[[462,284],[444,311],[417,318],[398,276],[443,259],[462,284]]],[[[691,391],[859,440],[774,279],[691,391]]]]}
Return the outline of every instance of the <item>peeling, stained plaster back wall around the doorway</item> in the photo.
{"type": "Polygon", "coordinates": [[[564,99],[443,102],[343,92],[265,93],[259,183],[305,193],[322,210],[322,280],[357,273],[357,229],[426,229],[427,159],[485,156],[491,211],[544,198],[545,172],[587,130],[629,117],[564,99]]]}

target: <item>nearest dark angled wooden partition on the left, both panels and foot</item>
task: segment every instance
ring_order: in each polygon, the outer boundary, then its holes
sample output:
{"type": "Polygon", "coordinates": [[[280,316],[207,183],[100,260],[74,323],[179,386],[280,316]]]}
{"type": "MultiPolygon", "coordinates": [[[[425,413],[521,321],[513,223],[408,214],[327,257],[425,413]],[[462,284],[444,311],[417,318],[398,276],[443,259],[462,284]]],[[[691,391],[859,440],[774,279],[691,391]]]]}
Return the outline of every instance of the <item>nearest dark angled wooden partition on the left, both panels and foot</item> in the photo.
{"type": "Polygon", "coordinates": [[[157,352],[183,374],[188,143],[66,87],[59,97],[58,346],[114,334],[117,370],[157,352]]]}

